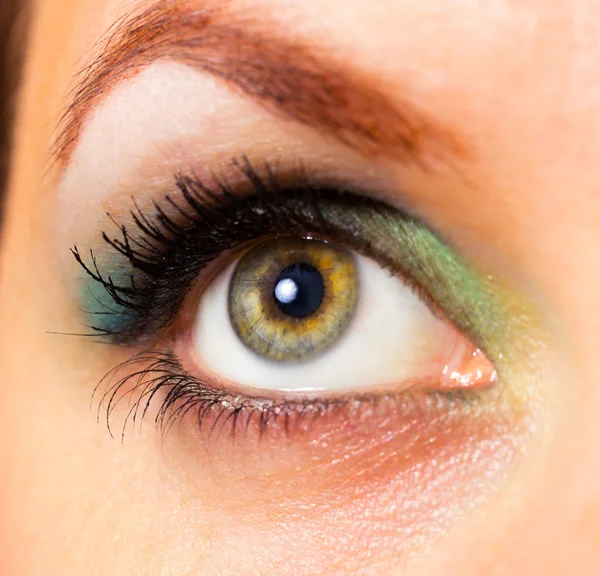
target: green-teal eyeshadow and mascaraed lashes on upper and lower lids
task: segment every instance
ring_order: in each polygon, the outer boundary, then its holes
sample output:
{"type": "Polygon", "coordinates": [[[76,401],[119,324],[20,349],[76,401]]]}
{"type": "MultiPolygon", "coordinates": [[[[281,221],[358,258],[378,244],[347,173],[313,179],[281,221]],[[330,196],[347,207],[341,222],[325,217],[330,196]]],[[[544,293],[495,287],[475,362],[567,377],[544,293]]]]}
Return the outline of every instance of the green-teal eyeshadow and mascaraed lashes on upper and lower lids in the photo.
{"type": "MultiPolygon", "coordinates": [[[[512,355],[522,354],[526,344],[520,325],[530,323],[530,310],[494,277],[481,276],[461,262],[419,220],[367,192],[309,176],[301,165],[287,171],[269,164],[256,169],[242,157],[233,160],[231,168],[241,175],[235,184],[225,175],[214,177],[212,185],[177,175],[176,193],[149,209],[134,206],[126,225],[113,218],[112,231],[102,234],[101,258],[93,248],[87,253],[73,249],[85,272],[81,306],[91,333],[112,344],[142,349],[109,378],[111,386],[103,399],[109,413],[126,394],[137,403],[136,410],[141,406],[145,413],[159,389],[166,390],[166,400],[157,418],[170,424],[193,407],[202,415],[214,412],[214,406],[223,407],[235,415],[225,420],[234,423],[246,410],[259,414],[266,425],[269,414],[290,414],[299,407],[301,412],[323,413],[348,401],[244,399],[193,376],[173,348],[170,335],[176,331],[176,319],[188,294],[198,290],[203,272],[224,253],[279,235],[315,236],[372,258],[481,348],[501,378],[509,376],[512,355]],[[161,334],[171,344],[157,347],[161,334]],[[136,368],[128,373],[127,366],[136,368]],[[132,379],[137,379],[133,387],[132,379]]],[[[438,398],[448,398],[445,394],[438,398]]],[[[453,394],[451,405],[458,397],[453,394]]],[[[463,396],[474,394],[479,392],[465,391],[463,396]]],[[[352,402],[360,401],[359,396],[352,402]]],[[[415,398],[422,398],[417,400],[421,405],[427,395],[415,398]]],[[[198,420],[201,423],[202,417],[198,420]]]]}

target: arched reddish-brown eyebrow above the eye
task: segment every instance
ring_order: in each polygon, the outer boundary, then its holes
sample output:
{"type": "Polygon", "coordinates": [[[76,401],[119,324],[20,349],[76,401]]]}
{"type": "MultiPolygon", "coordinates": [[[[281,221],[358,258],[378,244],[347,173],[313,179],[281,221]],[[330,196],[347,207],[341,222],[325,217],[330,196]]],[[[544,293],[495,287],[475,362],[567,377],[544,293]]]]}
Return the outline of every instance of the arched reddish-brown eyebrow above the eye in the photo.
{"type": "Polygon", "coordinates": [[[427,168],[467,156],[465,143],[437,118],[375,75],[335,61],[327,50],[297,43],[261,20],[236,16],[230,4],[158,0],[117,22],[99,56],[80,74],[60,123],[55,153],[68,162],[82,125],[120,81],[158,59],[221,78],[273,113],[311,126],[367,155],[393,156],[427,168]],[[272,33],[271,33],[272,32],[272,33]],[[396,91],[397,92],[397,91],[396,91]]]}

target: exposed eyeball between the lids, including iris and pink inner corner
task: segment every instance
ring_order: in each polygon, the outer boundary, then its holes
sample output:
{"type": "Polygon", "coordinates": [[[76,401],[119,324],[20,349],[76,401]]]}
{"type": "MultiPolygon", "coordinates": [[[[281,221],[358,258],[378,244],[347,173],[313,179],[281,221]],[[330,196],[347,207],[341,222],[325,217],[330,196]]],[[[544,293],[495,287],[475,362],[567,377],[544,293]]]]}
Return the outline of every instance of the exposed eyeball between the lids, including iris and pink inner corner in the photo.
{"type": "Polygon", "coordinates": [[[266,240],[205,287],[195,369],[238,389],[339,393],[492,384],[491,362],[402,278],[332,242],[266,240]]]}

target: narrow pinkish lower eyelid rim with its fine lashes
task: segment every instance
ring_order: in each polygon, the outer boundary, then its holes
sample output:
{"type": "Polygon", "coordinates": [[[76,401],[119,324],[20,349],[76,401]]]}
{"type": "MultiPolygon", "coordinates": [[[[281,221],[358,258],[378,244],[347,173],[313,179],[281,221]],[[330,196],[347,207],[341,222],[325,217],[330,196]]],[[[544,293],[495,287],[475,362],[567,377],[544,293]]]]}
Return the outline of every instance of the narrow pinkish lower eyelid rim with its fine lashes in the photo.
{"type": "MultiPolygon", "coordinates": [[[[419,388],[370,394],[339,394],[299,399],[279,394],[275,397],[248,396],[229,386],[197,380],[180,363],[174,349],[140,352],[117,366],[101,383],[99,415],[105,411],[110,423],[119,406],[128,407],[120,423],[123,432],[136,420],[154,414],[163,432],[173,426],[196,428],[196,433],[234,438],[243,430],[245,439],[270,437],[294,442],[311,442],[315,437],[336,434],[358,426],[376,429],[395,420],[399,426],[426,426],[432,419],[469,418],[472,409],[494,406],[502,397],[502,386],[491,389],[452,391],[419,388]],[[183,418],[185,416],[185,418],[183,418]],[[181,421],[180,420],[185,420],[181,421]],[[238,430],[239,429],[239,430],[238,430]]],[[[122,413],[121,413],[122,415],[122,413]]],[[[113,426],[114,428],[114,423],[113,426]]],[[[391,426],[393,429],[393,426],[391,426]]],[[[118,429],[118,428],[117,428],[118,429]]]]}

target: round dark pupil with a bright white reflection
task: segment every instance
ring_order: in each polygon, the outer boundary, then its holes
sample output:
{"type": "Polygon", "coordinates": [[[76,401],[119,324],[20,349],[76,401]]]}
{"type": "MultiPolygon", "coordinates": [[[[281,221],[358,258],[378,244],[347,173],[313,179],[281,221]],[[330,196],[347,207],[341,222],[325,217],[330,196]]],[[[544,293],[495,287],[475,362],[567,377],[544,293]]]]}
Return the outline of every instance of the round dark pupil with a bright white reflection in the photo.
{"type": "Polygon", "coordinates": [[[319,308],[324,295],[321,273],[314,266],[302,262],[284,268],[273,290],[277,307],[293,318],[310,316],[319,308]]]}

